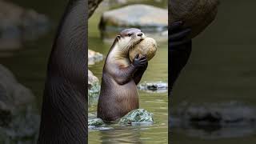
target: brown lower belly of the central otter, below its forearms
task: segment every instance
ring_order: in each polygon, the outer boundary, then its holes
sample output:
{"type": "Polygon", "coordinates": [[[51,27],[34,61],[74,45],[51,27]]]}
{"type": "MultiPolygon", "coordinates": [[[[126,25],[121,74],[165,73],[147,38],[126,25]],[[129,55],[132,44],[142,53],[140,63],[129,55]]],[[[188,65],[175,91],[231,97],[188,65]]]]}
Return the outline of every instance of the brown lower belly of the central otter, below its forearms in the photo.
{"type": "Polygon", "coordinates": [[[98,118],[115,121],[131,110],[138,109],[138,91],[134,80],[118,85],[112,78],[102,78],[98,99],[98,118]]]}

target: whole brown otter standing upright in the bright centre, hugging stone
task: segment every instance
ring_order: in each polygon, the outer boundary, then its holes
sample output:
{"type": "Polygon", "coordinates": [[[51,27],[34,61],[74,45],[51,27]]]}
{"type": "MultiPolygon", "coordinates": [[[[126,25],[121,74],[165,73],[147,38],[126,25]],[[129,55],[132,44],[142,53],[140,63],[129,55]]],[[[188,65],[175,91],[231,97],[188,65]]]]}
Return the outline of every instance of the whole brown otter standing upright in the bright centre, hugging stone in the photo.
{"type": "Polygon", "coordinates": [[[146,56],[139,54],[130,62],[129,50],[143,38],[145,34],[141,30],[122,30],[106,56],[97,114],[105,122],[114,122],[139,107],[136,85],[140,82],[148,62],[146,56]]]}

